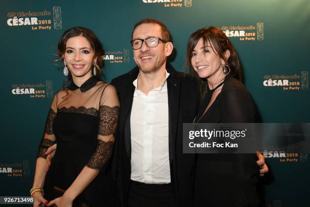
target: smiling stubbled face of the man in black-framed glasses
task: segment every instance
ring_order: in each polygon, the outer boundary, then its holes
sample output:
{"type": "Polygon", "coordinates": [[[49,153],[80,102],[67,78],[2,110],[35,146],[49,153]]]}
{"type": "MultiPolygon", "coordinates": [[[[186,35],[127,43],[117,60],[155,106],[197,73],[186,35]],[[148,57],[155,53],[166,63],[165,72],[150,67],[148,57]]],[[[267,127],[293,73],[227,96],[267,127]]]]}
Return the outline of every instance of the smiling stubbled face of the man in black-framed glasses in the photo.
{"type": "MultiPolygon", "coordinates": [[[[162,36],[162,28],[159,24],[144,23],[137,26],[133,32],[133,39],[145,39],[147,37],[160,37],[162,36]]],[[[138,50],[133,50],[134,60],[139,66],[140,70],[144,73],[156,72],[165,66],[167,56],[172,52],[172,43],[159,42],[157,47],[150,48],[145,42],[138,50]]]]}

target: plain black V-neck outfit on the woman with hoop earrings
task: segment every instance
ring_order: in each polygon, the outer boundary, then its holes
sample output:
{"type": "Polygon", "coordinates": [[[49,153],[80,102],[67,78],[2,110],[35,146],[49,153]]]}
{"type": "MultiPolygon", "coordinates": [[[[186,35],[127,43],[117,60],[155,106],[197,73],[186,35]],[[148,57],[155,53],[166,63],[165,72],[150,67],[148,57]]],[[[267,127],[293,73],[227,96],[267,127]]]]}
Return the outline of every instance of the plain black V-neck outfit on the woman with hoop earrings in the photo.
{"type": "MultiPolygon", "coordinates": [[[[255,107],[242,82],[226,76],[221,92],[203,115],[212,93],[207,92],[196,122],[255,122],[255,107]]],[[[197,154],[195,206],[257,206],[255,161],[255,154],[197,154]]]]}

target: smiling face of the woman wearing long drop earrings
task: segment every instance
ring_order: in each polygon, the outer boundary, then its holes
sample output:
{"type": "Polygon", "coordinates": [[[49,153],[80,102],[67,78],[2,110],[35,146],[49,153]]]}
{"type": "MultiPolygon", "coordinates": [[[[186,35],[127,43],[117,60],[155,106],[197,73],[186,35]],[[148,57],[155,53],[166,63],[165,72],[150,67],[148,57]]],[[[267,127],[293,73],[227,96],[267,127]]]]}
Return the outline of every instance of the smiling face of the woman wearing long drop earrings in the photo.
{"type": "Polygon", "coordinates": [[[85,37],[74,36],[67,40],[64,59],[73,81],[79,78],[84,82],[92,76],[94,57],[94,50],[85,37]]]}

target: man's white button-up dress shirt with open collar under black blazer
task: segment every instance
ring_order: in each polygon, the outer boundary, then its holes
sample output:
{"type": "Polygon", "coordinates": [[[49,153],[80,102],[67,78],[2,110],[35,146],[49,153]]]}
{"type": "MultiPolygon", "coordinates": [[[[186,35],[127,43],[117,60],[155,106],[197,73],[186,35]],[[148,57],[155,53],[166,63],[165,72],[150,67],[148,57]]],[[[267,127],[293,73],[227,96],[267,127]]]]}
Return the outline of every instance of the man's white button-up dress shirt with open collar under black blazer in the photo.
{"type": "Polygon", "coordinates": [[[166,79],[145,95],[135,86],[130,116],[131,180],[141,183],[170,183],[169,115],[166,79]]]}

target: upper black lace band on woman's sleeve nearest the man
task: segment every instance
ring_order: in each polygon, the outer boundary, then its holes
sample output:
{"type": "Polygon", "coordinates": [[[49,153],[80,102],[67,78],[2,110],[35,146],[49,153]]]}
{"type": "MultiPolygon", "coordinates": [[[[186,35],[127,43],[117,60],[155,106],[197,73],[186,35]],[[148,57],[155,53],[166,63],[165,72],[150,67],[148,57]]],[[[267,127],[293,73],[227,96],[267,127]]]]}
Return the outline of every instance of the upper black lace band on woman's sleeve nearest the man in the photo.
{"type": "Polygon", "coordinates": [[[109,107],[102,105],[99,108],[99,129],[98,134],[102,136],[112,135],[117,127],[117,122],[119,118],[120,107],[114,106],[109,107]]]}

